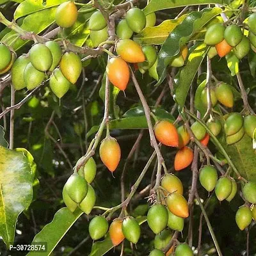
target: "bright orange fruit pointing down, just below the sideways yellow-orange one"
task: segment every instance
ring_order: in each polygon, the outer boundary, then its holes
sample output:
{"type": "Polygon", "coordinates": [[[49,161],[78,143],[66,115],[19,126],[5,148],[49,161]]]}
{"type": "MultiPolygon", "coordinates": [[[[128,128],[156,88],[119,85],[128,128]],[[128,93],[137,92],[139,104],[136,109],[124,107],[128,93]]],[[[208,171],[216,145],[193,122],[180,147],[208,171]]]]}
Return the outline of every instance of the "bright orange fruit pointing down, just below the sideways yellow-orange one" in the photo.
{"type": "Polygon", "coordinates": [[[130,70],[127,63],[120,57],[113,57],[106,67],[109,81],[118,89],[124,91],[130,78],[130,70]]]}

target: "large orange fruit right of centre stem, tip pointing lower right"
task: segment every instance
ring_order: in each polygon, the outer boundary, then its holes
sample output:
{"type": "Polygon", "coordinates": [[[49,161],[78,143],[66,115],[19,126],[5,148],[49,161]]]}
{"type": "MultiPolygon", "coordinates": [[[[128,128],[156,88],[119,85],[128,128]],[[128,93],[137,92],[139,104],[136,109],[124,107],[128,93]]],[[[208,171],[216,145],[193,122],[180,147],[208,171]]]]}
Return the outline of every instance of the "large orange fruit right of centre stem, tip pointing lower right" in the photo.
{"type": "Polygon", "coordinates": [[[157,122],[154,127],[154,132],[157,140],[159,140],[163,145],[170,147],[179,146],[179,135],[175,125],[173,125],[168,120],[161,120],[157,122]]]}

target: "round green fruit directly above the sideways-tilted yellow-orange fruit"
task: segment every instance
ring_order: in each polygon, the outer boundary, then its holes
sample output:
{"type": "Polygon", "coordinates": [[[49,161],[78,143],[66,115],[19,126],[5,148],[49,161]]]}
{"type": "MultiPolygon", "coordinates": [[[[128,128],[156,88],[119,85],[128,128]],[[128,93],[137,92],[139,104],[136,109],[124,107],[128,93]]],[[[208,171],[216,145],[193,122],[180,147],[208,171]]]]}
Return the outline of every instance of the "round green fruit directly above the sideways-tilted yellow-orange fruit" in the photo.
{"type": "Polygon", "coordinates": [[[146,26],[145,14],[139,8],[131,8],[125,16],[128,26],[135,33],[140,33],[146,26]]]}

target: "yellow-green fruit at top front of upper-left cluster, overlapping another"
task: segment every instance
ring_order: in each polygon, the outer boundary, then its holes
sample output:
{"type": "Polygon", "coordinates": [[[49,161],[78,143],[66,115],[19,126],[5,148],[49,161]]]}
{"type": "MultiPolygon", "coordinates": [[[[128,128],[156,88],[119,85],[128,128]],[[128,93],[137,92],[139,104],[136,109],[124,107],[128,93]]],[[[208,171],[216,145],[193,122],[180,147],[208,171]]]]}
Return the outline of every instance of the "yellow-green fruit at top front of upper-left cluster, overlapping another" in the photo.
{"type": "Polygon", "coordinates": [[[39,71],[46,71],[52,65],[52,53],[44,44],[35,44],[29,51],[32,65],[39,71]]]}

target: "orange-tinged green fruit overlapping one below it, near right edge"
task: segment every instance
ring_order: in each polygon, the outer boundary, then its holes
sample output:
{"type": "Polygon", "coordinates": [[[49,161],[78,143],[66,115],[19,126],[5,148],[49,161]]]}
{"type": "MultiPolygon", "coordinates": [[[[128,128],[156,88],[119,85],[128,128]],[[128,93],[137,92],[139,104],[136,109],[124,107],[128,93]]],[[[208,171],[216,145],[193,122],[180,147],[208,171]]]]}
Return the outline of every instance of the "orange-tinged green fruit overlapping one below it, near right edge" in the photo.
{"type": "Polygon", "coordinates": [[[225,134],[227,136],[236,134],[243,126],[243,116],[239,113],[231,113],[224,125],[225,134]]]}

